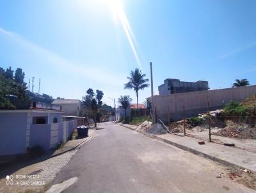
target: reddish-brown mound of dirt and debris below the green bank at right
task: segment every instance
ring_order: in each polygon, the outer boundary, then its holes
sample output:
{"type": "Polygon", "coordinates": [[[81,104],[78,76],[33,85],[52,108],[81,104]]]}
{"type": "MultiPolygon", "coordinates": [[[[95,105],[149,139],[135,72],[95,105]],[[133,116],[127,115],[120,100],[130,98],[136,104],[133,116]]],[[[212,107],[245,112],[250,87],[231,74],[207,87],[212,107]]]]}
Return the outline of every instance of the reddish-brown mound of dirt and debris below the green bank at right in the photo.
{"type": "Polygon", "coordinates": [[[246,125],[228,125],[218,130],[214,135],[237,139],[256,139],[256,128],[246,125]]]}

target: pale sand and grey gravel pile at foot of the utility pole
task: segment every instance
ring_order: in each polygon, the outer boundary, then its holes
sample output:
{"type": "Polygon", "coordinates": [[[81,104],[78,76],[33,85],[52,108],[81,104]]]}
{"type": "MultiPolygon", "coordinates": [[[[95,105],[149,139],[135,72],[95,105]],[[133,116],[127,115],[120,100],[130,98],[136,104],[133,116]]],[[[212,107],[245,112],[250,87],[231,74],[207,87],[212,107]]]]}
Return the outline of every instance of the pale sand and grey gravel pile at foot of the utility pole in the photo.
{"type": "Polygon", "coordinates": [[[161,135],[161,134],[166,134],[166,130],[163,128],[163,126],[159,123],[156,123],[152,125],[151,122],[149,121],[144,121],[139,125],[136,130],[138,132],[146,132],[148,134],[156,134],[156,135],[161,135]]]}

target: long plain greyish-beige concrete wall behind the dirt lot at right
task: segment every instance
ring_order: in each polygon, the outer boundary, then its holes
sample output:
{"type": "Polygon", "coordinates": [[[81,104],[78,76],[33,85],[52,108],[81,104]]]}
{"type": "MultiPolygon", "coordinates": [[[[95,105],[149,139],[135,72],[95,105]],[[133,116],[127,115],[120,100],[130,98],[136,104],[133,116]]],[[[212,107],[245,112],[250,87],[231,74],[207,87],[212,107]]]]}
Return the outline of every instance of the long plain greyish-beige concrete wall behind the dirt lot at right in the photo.
{"type": "Polygon", "coordinates": [[[256,86],[253,85],[164,96],[156,95],[154,96],[154,106],[156,107],[157,120],[161,118],[163,121],[168,121],[168,107],[170,118],[179,120],[183,117],[183,106],[185,106],[185,116],[190,117],[207,112],[207,102],[209,102],[212,111],[224,107],[230,100],[241,102],[255,93],[256,86]]]}

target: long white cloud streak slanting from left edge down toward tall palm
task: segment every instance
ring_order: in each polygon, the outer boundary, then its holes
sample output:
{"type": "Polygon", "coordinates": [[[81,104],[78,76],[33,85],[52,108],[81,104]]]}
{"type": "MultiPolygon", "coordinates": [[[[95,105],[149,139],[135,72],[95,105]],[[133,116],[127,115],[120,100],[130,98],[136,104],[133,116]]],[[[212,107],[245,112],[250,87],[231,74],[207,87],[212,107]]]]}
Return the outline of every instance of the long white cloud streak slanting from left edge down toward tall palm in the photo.
{"type": "Polygon", "coordinates": [[[120,72],[115,73],[112,69],[107,68],[107,66],[69,61],[51,50],[47,50],[33,42],[30,42],[29,40],[26,40],[23,36],[20,36],[17,33],[6,31],[0,27],[0,34],[1,33],[15,40],[15,42],[20,46],[26,47],[31,52],[36,53],[38,60],[43,59],[46,62],[45,65],[55,66],[58,70],[65,73],[81,75],[85,79],[90,79],[90,81],[112,86],[122,87],[123,82],[126,81],[126,75],[122,75],[120,72]]]}

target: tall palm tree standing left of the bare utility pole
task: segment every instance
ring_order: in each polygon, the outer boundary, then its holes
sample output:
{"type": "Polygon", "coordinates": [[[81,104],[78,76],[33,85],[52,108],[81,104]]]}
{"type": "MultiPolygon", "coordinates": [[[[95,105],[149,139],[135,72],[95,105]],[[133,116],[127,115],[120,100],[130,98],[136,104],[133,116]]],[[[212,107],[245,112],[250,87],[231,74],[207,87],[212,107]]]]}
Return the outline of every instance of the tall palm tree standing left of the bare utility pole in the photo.
{"type": "Polygon", "coordinates": [[[148,79],[144,79],[145,76],[145,73],[142,73],[141,70],[135,68],[134,71],[131,71],[130,77],[127,77],[129,82],[124,84],[124,89],[134,89],[137,97],[137,109],[139,109],[138,91],[149,86],[149,84],[147,83],[148,79]]]}

